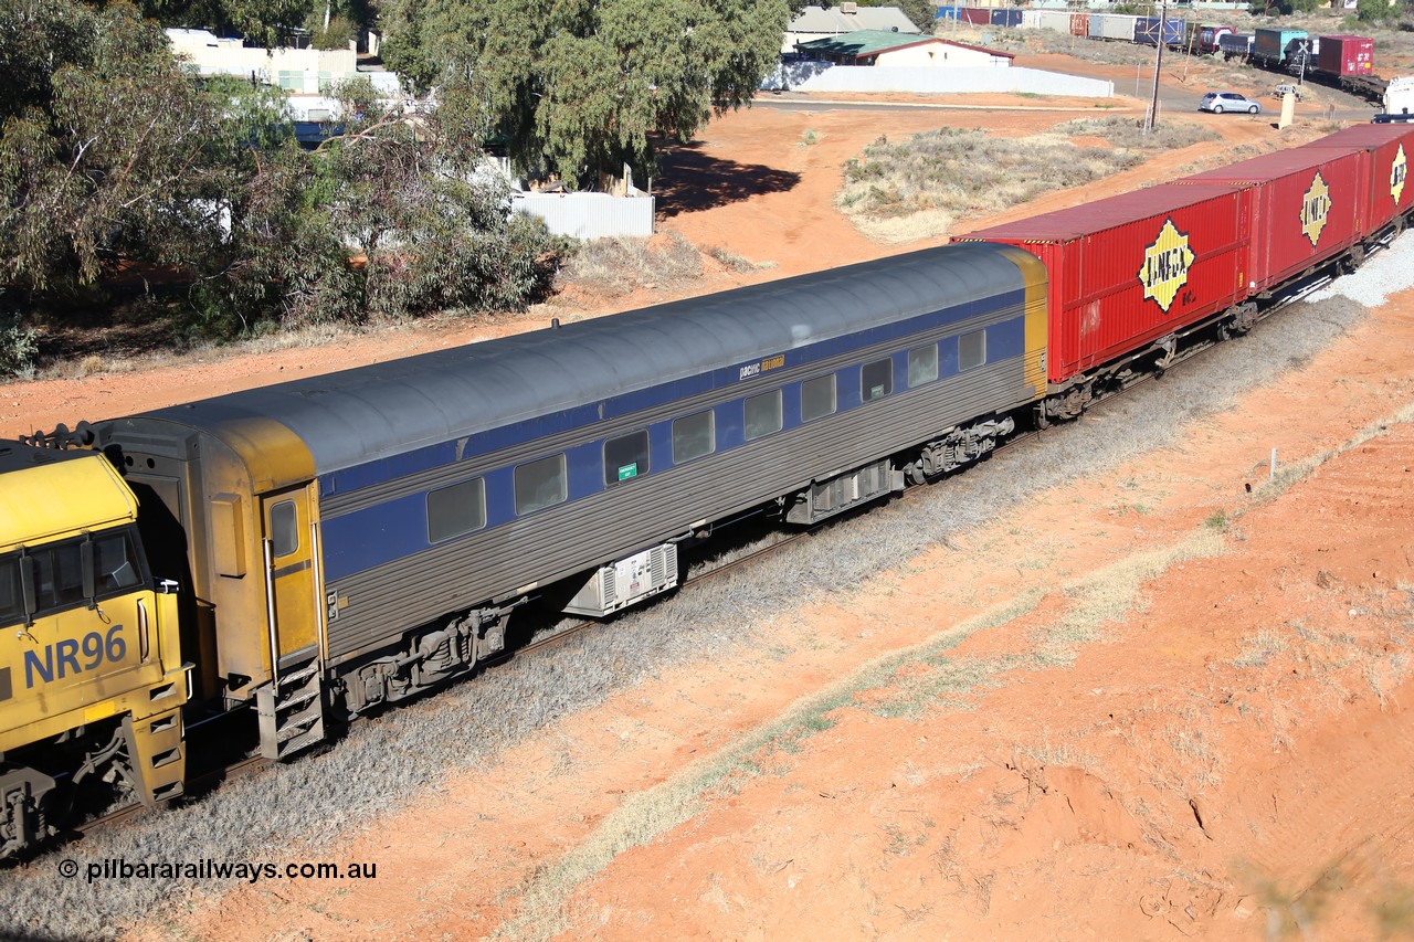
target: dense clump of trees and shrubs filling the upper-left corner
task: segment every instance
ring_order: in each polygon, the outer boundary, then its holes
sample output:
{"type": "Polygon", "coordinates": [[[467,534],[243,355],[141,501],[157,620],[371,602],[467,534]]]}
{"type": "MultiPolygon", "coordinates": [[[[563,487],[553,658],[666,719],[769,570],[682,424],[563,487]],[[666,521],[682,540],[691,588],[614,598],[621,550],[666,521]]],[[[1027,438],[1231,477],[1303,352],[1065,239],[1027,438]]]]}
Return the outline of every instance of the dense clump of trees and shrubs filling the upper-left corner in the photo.
{"type": "Polygon", "coordinates": [[[54,300],[116,266],[163,266],[182,318],[216,335],[506,310],[549,290],[559,246],[509,214],[475,139],[436,110],[407,116],[354,82],[307,153],[283,92],[198,81],[123,0],[0,0],[10,37],[23,41],[0,41],[16,78],[0,99],[0,287],[54,300]]]}

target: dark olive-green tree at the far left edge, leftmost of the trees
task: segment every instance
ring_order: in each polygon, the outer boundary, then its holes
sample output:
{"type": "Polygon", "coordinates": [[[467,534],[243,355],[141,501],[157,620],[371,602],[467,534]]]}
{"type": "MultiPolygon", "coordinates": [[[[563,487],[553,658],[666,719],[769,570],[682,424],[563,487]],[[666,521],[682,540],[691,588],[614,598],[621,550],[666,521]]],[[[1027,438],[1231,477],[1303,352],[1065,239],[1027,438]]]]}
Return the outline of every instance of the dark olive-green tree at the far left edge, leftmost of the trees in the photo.
{"type": "Polygon", "coordinates": [[[0,0],[0,283],[92,281],[100,255],[180,260],[216,113],[126,3],[0,0]]]}

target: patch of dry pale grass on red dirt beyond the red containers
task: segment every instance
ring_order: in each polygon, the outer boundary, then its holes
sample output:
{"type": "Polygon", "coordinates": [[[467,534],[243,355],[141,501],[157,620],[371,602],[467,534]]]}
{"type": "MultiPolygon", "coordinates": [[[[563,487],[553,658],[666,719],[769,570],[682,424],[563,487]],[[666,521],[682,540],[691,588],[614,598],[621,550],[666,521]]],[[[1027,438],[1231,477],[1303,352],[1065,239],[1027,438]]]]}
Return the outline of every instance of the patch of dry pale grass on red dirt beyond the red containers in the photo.
{"type": "Polygon", "coordinates": [[[1144,163],[1151,153],[1213,137],[1208,129],[1172,122],[1145,133],[1141,122],[1126,117],[1068,122],[1029,137],[949,127],[902,141],[880,137],[846,163],[834,204],[874,239],[936,236],[954,222],[1093,182],[1144,163]],[[1100,137],[1110,146],[1079,146],[1073,137],[1100,137]]]}

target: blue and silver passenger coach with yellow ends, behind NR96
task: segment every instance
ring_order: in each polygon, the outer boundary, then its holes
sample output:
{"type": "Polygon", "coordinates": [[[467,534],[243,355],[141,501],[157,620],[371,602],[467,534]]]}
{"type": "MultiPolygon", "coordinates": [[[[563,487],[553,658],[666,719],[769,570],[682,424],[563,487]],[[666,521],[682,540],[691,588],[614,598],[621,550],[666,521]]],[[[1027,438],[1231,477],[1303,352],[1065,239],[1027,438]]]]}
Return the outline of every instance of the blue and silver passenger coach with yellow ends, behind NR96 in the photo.
{"type": "Polygon", "coordinates": [[[266,754],[462,673],[536,594],[607,614],[677,542],[976,460],[1045,393],[1046,274],[949,246],[105,423],[191,559],[205,689],[266,754]],[[573,577],[573,578],[571,578],[573,577]]]}

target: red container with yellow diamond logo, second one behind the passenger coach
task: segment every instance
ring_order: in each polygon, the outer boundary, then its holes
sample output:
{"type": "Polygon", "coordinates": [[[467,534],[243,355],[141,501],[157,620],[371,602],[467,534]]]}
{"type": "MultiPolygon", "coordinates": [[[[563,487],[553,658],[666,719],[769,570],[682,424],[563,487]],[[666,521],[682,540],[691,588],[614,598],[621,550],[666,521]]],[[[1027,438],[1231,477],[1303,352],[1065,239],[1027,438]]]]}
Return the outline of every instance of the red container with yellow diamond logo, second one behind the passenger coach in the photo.
{"type": "Polygon", "coordinates": [[[1176,185],[1253,190],[1250,289],[1267,289],[1335,257],[1365,233],[1369,161],[1363,150],[1295,147],[1209,170],[1176,185]]]}

